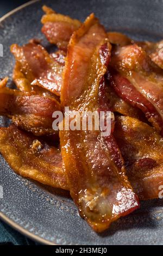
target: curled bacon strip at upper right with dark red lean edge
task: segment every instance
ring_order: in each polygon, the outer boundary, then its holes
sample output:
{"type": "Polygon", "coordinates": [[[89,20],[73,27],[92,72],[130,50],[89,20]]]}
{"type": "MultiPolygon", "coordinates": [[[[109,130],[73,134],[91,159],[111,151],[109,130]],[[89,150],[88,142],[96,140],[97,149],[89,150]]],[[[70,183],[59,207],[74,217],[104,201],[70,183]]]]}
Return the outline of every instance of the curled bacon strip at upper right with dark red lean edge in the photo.
{"type": "Polygon", "coordinates": [[[111,77],[118,96],[139,107],[156,130],[163,134],[163,71],[137,45],[118,47],[111,77]]]}

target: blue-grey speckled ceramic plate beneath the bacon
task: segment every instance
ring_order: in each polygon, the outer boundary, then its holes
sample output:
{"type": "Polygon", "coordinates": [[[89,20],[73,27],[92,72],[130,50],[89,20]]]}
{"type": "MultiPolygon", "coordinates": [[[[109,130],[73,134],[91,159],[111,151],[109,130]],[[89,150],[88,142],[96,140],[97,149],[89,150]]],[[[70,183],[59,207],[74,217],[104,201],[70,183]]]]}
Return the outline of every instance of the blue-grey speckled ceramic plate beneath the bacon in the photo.
{"type": "MultiPolygon", "coordinates": [[[[9,47],[31,38],[43,39],[41,6],[47,4],[59,13],[84,21],[94,12],[103,25],[134,39],[163,38],[162,0],[55,0],[39,1],[18,8],[0,20],[0,77],[10,76],[14,64],[9,47]]],[[[12,82],[10,80],[10,85],[12,82]]],[[[8,120],[1,118],[0,125],[8,120]]],[[[21,233],[36,241],[53,245],[162,245],[163,200],[141,203],[141,209],[113,223],[108,231],[96,234],[79,217],[68,192],[54,190],[16,175],[0,156],[0,216],[21,233]]]]}

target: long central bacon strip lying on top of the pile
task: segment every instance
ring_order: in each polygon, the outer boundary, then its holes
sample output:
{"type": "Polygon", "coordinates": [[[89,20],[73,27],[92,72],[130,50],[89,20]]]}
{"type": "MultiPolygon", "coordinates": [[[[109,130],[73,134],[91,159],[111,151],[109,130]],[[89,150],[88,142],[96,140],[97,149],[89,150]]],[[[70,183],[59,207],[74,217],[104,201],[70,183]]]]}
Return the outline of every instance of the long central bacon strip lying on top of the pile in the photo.
{"type": "MultiPolygon", "coordinates": [[[[70,40],[61,91],[61,103],[70,110],[106,110],[103,97],[98,98],[110,59],[105,38],[104,28],[91,14],[70,40]]],[[[139,206],[114,137],[104,138],[100,131],[65,130],[60,131],[60,144],[71,196],[94,230],[105,230],[139,206]]]]}

